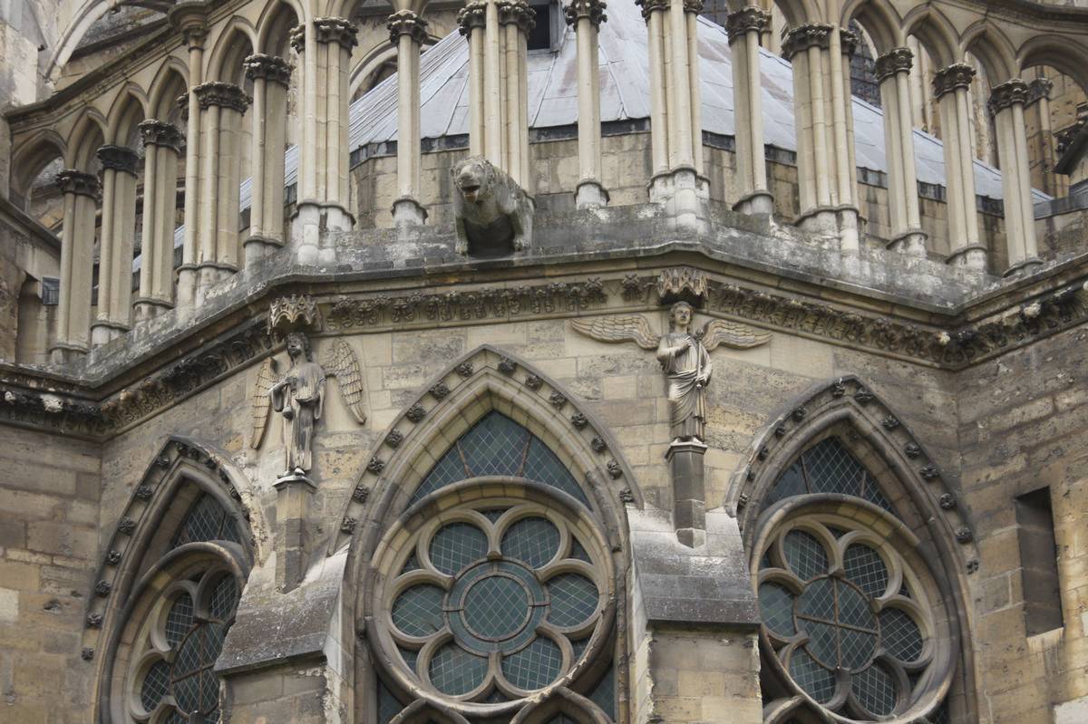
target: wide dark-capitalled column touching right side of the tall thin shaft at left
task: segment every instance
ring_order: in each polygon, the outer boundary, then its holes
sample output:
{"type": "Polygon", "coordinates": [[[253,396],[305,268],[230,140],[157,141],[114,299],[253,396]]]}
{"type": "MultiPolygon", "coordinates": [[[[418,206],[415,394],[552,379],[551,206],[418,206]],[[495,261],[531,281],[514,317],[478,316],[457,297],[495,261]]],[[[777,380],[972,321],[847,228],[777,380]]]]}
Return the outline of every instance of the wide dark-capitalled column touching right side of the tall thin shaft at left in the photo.
{"type": "Polygon", "coordinates": [[[242,175],[242,116],[251,99],[230,83],[196,87],[201,122],[200,213],[197,303],[219,282],[238,271],[238,184],[242,175]]]}

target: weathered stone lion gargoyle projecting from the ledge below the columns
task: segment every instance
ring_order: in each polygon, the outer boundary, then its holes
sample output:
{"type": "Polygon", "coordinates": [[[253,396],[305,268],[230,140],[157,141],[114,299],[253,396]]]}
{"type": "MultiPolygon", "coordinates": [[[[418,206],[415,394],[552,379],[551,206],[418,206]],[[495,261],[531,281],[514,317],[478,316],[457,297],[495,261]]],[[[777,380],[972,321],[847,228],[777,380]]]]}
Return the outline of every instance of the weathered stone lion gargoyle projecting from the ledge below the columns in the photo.
{"type": "Polygon", "coordinates": [[[449,170],[454,179],[457,253],[503,257],[529,248],[533,237],[532,197],[482,155],[449,170]]]}

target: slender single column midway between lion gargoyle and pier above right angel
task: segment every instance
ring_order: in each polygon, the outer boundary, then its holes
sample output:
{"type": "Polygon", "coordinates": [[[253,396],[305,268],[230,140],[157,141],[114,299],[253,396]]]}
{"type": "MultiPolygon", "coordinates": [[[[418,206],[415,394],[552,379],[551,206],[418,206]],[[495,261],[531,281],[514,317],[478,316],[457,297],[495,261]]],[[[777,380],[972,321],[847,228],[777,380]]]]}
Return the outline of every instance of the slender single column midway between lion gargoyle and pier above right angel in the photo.
{"type": "Polygon", "coordinates": [[[564,8],[567,25],[578,38],[578,188],[579,209],[608,205],[601,183],[601,68],[598,34],[607,20],[604,0],[572,0],[564,8]]]}

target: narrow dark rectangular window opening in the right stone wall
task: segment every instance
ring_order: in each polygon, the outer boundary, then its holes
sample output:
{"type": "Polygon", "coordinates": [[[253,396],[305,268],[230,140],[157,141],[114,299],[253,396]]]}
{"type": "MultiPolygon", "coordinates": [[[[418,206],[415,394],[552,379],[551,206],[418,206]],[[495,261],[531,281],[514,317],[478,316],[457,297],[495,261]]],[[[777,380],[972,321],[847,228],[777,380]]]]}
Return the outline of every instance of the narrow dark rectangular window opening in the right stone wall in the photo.
{"type": "Polygon", "coordinates": [[[1024,622],[1027,635],[1034,636],[1064,625],[1050,488],[1016,497],[1015,507],[1024,622]]]}

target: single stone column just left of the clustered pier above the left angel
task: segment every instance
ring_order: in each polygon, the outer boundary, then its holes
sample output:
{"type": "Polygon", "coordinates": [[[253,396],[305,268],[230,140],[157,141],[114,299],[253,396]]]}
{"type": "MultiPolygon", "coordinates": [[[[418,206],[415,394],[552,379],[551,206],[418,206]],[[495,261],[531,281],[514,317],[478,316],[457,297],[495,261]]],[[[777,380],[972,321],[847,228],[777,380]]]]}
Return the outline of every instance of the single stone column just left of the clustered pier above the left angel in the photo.
{"type": "Polygon", "coordinates": [[[254,82],[254,152],[249,237],[243,242],[246,269],[283,247],[284,151],[287,147],[287,87],[292,66],[256,53],[245,60],[254,82]]]}

